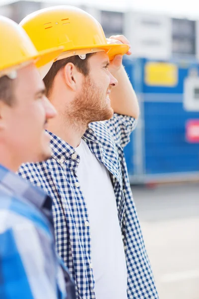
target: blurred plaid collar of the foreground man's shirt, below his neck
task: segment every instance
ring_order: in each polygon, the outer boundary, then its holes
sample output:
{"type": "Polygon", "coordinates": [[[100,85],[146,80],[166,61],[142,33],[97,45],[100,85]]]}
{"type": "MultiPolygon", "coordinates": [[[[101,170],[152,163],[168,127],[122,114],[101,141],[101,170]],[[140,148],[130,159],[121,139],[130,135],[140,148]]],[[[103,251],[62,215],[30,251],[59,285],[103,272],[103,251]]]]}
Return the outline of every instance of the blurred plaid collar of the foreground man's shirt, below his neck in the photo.
{"type": "Polygon", "coordinates": [[[0,165],[0,187],[18,199],[33,204],[52,223],[52,200],[50,196],[2,165],[0,165]]]}

